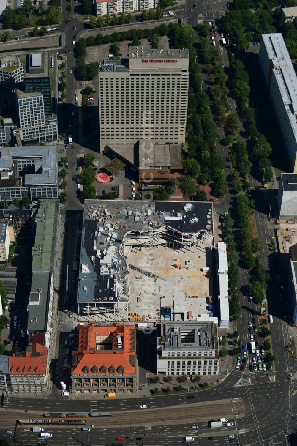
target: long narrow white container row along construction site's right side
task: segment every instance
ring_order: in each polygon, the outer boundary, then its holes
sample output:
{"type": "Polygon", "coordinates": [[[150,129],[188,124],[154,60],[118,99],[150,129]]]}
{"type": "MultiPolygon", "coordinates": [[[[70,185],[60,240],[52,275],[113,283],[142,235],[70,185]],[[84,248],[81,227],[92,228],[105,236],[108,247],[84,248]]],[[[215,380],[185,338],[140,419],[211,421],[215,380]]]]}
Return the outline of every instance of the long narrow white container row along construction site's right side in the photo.
{"type": "Polygon", "coordinates": [[[217,281],[218,281],[218,309],[219,326],[229,327],[229,293],[228,293],[228,264],[226,244],[218,242],[217,249],[217,281]]]}

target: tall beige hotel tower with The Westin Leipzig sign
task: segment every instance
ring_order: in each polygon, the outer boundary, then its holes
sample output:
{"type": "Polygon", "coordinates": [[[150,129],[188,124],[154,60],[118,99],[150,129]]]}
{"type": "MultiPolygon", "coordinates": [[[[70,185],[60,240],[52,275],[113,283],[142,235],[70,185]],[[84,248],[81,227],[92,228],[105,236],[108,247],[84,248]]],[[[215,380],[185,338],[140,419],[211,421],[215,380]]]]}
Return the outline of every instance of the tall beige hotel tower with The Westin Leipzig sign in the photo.
{"type": "Polygon", "coordinates": [[[124,60],[99,61],[101,151],[106,145],[185,142],[189,51],[130,47],[124,60]]]}

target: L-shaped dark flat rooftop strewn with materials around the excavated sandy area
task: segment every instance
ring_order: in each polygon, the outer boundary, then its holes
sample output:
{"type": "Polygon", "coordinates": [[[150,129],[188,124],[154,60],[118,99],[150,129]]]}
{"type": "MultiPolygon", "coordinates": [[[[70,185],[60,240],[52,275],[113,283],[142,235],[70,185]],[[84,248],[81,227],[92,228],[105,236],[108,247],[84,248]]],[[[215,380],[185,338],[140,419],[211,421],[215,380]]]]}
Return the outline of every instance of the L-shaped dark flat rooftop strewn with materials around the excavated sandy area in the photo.
{"type": "Polygon", "coordinates": [[[127,275],[123,244],[148,244],[154,232],[178,243],[213,235],[213,204],[85,200],[78,302],[127,301],[120,293],[127,275]]]}

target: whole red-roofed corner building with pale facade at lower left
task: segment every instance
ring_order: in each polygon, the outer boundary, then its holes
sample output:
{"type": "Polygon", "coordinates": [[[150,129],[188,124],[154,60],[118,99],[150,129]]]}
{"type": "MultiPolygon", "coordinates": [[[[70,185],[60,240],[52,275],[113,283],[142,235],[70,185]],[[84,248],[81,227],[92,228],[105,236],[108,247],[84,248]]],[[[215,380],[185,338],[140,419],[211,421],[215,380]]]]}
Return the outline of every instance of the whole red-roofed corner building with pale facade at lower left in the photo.
{"type": "Polygon", "coordinates": [[[47,347],[36,343],[13,353],[9,356],[9,375],[12,392],[45,392],[49,385],[47,347]]]}

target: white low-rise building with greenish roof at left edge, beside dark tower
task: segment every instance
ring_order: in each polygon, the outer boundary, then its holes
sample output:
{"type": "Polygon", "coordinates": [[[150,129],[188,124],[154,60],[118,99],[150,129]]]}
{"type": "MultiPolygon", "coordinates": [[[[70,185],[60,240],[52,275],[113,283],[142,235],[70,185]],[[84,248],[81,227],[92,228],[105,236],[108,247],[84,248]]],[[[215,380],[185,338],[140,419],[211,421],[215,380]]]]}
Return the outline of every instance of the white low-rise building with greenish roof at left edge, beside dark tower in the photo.
{"type": "Polygon", "coordinates": [[[25,68],[18,56],[3,56],[0,58],[0,87],[13,90],[16,83],[23,82],[25,68]]]}

